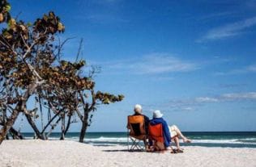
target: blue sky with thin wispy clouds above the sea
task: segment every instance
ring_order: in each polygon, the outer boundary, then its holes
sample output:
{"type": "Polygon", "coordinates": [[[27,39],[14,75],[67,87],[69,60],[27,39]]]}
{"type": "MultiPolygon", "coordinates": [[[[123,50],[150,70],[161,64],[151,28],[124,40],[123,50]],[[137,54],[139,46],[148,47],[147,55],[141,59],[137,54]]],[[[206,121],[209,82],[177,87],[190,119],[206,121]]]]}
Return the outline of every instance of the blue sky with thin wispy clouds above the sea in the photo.
{"type": "Polygon", "coordinates": [[[83,58],[101,67],[96,90],[126,96],[100,106],[89,131],[126,131],[136,103],[182,131],[256,131],[255,0],[10,2],[27,21],[53,10],[61,39],[76,37],[63,58],[74,61],[83,38],[83,58]]]}

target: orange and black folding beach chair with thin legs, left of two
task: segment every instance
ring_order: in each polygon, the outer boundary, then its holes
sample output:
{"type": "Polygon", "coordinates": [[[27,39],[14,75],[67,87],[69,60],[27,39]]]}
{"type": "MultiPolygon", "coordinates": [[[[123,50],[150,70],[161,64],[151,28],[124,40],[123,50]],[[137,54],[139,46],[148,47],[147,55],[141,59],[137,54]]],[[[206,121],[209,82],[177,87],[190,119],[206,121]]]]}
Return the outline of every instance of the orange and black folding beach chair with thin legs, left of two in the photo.
{"type": "Polygon", "coordinates": [[[143,115],[129,115],[127,124],[128,151],[146,151],[147,134],[143,115]],[[137,125],[137,128],[136,126],[137,125]],[[134,128],[135,127],[135,128],[134,128]]]}

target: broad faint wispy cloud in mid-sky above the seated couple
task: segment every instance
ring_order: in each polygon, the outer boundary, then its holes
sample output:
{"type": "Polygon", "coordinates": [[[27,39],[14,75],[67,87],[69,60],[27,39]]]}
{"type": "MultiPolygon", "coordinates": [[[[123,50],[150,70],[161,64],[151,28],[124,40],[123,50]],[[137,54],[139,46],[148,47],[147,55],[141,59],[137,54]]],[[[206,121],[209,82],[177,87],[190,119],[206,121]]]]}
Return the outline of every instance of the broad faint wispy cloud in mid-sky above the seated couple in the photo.
{"type": "Polygon", "coordinates": [[[185,73],[198,69],[198,65],[166,53],[153,53],[133,60],[94,62],[103,70],[133,74],[185,73]]]}

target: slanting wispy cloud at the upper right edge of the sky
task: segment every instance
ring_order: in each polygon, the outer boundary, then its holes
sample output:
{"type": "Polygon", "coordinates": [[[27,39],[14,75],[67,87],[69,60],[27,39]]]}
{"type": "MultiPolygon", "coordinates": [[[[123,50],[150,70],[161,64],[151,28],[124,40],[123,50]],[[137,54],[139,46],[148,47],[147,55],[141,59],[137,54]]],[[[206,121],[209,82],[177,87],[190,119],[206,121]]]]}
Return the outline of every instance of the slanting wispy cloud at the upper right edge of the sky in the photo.
{"type": "Polygon", "coordinates": [[[198,42],[202,42],[204,40],[220,40],[231,36],[240,35],[241,33],[245,32],[243,30],[255,25],[256,16],[249,19],[244,19],[236,23],[229,23],[221,27],[215,27],[208,31],[207,34],[203,36],[203,38],[198,40],[198,42]]]}

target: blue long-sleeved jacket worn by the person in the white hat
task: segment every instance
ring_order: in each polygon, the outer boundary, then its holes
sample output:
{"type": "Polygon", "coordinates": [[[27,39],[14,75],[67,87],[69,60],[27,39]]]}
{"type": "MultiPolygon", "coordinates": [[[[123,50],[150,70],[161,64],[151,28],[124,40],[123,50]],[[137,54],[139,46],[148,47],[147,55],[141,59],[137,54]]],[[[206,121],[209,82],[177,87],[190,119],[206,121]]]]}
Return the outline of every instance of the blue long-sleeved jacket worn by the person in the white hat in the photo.
{"type": "Polygon", "coordinates": [[[169,132],[168,124],[165,122],[165,120],[162,118],[156,118],[156,119],[151,119],[149,123],[151,125],[162,123],[162,128],[164,132],[164,147],[165,148],[169,147],[171,143],[171,134],[169,132]]]}

